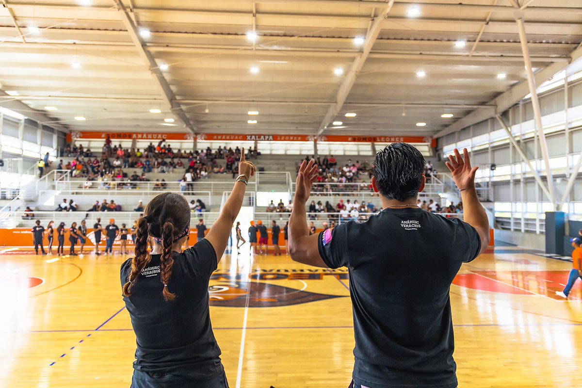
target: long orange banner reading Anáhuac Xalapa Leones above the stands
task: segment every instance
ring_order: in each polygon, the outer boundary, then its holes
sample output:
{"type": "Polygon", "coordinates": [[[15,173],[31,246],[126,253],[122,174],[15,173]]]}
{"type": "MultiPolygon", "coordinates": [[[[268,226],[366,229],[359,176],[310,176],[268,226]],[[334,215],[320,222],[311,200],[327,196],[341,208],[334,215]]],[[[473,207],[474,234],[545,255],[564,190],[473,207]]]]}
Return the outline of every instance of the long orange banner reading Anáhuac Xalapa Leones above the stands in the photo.
{"type": "Polygon", "coordinates": [[[194,140],[198,141],[336,141],[342,143],[430,143],[431,147],[437,146],[437,141],[431,137],[423,136],[344,136],[344,135],[268,135],[268,134],[226,134],[226,133],[133,133],[133,132],[97,132],[97,131],[73,131],[67,134],[67,141],[77,139],[105,139],[109,135],[115,140],[194,140]]]}

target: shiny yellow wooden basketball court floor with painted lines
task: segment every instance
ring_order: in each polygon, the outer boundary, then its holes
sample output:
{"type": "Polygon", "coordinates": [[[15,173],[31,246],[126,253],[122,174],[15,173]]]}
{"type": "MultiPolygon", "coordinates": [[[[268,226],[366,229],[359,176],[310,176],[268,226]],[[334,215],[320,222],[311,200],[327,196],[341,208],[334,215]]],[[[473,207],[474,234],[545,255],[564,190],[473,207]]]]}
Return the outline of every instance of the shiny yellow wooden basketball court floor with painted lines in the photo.
{"type": "MultiPolygon", "coordinates": [[[[459,387],[582,386],[581,284],[572,300],[555,298],[571,264],[535,253],[496,247],[463,265],[450,291],[459,387]]],[[[54,258],[0,251],[0,386],[129,387],[123,258],[54,258]]],[[[210,293],[229,385],[347,387],[348,286],[345,270],[225,254],[210,293]]]]}

